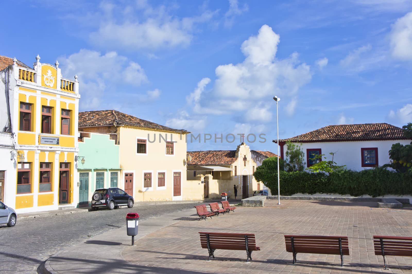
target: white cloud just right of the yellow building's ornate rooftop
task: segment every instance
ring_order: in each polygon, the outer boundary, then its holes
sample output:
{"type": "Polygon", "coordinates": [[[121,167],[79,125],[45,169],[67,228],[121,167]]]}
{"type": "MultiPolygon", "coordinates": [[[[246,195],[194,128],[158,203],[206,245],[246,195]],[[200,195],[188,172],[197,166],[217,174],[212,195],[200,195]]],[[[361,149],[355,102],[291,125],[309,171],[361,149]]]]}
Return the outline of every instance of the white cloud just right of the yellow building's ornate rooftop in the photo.
{"type": "Polygon", "coordinates": [[[62,75],[78,76],[81,110],[98,109],[107,85],[140,86],[148,82],[147,76],[136,62],[120,56],[115,51],[101,54],[98,51],[80,49],[70,56],[59,57],[62,75]]]}

